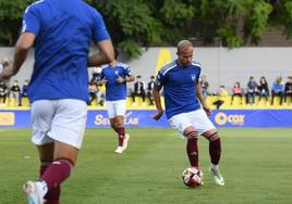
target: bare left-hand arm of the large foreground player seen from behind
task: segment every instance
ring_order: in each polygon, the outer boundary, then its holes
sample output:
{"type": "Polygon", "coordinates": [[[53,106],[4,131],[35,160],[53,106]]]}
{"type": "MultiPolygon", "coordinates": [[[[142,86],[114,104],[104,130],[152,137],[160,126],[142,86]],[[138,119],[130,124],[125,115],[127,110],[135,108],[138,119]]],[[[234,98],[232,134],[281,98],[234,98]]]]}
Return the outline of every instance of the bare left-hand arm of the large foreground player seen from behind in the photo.
{"type": "Polygon", "coordinates": [[[29,49],[33,47],[35,42],[36,36],[33,33],[22,33],[14,51],[13,64],[12,66],[7,66],[2,74],[2,78],[10,78],[11,76],[17,74],[22,64],[26,60],[27,53],[29,49]]]}

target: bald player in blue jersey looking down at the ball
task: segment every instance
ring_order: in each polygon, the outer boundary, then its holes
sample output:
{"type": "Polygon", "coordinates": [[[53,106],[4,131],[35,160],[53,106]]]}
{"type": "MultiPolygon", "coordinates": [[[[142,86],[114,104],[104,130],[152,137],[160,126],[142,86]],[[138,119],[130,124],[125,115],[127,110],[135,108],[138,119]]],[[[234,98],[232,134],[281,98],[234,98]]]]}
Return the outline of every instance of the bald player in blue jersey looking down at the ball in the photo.
{"type": "Polygon", "coordinates": [[[202,93],[198,80],[200,64],[193,61],[192,42],[180,41],[177,54],[178,59],[163,66],[156,77],[154,100],[157,113],[153,118],[157,120],[163,114],[159,93],[163,87],[167,118],[169,124],[187,139],[186,153],[192,168],[199,170],[197,138],[202,135],[209,140],[211,158],[209,171],[214,175],[217,184],[224,186],[218,168],[221,142],[218,131],[207,117],[207,114],[211,114],[211,110],[202,93]]]}

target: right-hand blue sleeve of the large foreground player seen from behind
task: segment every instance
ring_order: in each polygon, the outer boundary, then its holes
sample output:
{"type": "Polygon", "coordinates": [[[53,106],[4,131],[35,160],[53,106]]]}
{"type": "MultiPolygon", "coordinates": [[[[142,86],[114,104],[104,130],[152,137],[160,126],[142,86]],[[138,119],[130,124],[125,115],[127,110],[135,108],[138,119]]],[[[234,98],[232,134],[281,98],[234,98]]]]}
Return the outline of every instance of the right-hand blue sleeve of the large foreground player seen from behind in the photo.
{"type": "Polygon", "coordinates": [[[93,40],[98,42],[110,39],[110,35],[106,28],[101,14],[94,9],[93,14],[94,14],[93,40]]]}

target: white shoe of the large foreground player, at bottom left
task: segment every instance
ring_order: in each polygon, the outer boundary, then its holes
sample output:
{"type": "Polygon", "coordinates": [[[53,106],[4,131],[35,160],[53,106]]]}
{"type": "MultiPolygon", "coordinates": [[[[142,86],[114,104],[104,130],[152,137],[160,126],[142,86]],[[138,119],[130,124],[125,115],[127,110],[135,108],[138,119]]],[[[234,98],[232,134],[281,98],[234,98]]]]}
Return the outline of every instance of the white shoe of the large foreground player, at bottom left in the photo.
{"type": "Polygon", "coordinates": [[[38,181],[27,181],[23,186],[23,191],[26,193],[26,199],[28,204],[44,204],[44,196],[46,191],[42,190],[40,182],[38,181]]]}

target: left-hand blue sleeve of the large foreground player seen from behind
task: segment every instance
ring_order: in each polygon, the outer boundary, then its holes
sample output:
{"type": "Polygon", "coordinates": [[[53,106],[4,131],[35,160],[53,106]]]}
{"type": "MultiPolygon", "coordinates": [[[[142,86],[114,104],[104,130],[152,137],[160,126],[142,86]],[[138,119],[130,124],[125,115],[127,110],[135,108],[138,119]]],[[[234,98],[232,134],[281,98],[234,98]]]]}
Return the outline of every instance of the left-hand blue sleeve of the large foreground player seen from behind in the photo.
{"type": "Polygon", "coordinates": [[[40,29],[40,16],[36,4],[28,5],[23,14],[22,33],[28,31],[36,36],[40,29]]]}

